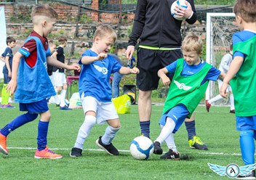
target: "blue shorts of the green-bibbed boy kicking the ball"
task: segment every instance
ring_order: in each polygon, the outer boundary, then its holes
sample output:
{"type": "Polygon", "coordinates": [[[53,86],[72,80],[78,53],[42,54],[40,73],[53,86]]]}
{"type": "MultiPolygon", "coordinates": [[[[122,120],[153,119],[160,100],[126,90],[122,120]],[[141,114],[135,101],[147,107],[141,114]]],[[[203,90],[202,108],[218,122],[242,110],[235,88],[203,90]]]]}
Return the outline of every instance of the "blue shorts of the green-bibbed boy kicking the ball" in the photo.
{"type": "Polygon", "coordinates": [[[187,107],[185,105],[177,105],[172,108],[172,110],[169,110],[167,113],[161,116],[161,119],[159,120],[159,124],[165,125],[167,117],[172,118],[172,120],[175,121],[175,129],[172,131],[172,133],[175,133],[180,126],[183,124],[185,118],[189,115],[189,111],[187,110],[187,107]]]}

